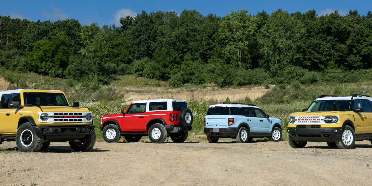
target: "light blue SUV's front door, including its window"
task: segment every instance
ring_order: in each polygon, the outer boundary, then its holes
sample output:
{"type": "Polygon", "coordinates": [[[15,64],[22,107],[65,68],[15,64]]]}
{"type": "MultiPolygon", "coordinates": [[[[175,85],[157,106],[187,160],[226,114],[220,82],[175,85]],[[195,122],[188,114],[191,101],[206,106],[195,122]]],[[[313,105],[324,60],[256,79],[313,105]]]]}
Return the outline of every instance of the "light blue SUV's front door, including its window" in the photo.
{"type": "Polygon", "coordinates": [[[270,119],[266,118],[266,114],[259,108],[252,108],[254,118],[252,119],[253,129],[259,133],[270,132],[270,119]]]}

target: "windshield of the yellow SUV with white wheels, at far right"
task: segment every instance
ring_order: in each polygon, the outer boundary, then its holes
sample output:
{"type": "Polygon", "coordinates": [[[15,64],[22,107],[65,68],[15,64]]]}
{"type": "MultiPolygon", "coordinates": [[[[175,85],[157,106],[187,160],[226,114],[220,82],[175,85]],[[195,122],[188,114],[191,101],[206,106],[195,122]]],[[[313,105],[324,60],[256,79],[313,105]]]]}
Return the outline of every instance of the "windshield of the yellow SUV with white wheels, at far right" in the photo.
{"type": "Polygon", "coordinates": [[[315,111],[349,111],[351,100],[322,100],[314,101],[307,109],[310,112],[315,111]]]}

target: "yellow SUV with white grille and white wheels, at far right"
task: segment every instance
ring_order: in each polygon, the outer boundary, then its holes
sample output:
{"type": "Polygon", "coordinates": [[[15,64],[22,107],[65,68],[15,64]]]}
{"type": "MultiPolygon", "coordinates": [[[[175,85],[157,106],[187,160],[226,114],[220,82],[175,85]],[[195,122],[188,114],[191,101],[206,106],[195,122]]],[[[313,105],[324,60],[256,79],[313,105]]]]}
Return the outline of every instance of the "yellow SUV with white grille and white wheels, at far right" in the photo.
{"type": "Polygon", "coordinates": [[[322,95],[307,109],[289,115],[287,131],[293,148],[305,147],[308,141],[353,148],[355,141],[372,140],[372,98],[363,94],[322,95]]]}

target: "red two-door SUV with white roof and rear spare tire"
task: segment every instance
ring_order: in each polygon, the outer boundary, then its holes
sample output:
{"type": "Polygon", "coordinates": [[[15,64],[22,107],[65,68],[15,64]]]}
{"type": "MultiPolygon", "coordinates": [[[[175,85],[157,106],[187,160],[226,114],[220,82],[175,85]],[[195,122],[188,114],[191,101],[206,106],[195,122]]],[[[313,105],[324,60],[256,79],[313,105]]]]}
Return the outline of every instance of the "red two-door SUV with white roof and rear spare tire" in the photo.
{"type": "Polygon", "coordinates": [[[184,142],[192,129],[193,116],[185,100],[155,99],[132,102],[120,114],[104,115],[100,129],[106,142],[138,142],[148,135],[151,142],[184,142]]]}

